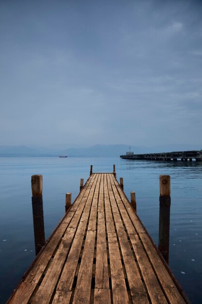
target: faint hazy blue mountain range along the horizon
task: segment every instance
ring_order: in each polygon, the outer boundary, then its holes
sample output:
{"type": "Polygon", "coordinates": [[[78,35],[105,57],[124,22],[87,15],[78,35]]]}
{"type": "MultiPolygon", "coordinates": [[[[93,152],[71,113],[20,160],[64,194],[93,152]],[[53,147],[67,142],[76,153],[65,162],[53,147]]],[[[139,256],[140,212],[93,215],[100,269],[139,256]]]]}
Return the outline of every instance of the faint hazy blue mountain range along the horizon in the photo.
{"type": "MultiPolygon", "coordinates": [[[[59,155],[68,155],[71,157],[119,157],[129,151],[129,145],[94,145],[88,148],[69,148],[61,149],[54,145],[53,147],[27,147],[27,146],[0,146],[0,157],[58,157],[59,155]]],[[[172,144],[156,145],[153,147],[131,146],[131,151],[139,153],[172,152],[201,150],[202,144],[172,144]]]]}

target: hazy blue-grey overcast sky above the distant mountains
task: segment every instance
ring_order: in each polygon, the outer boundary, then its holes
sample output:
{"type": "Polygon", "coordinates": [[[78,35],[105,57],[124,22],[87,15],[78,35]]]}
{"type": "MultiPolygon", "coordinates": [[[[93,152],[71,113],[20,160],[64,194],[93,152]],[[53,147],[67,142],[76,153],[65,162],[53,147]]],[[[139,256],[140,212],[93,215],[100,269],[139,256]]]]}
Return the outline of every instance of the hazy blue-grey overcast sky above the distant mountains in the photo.
{"type": "Polygon", "coordinates": [[[0,145],[202,143],[202,0],[0,0],[0,145]]]}

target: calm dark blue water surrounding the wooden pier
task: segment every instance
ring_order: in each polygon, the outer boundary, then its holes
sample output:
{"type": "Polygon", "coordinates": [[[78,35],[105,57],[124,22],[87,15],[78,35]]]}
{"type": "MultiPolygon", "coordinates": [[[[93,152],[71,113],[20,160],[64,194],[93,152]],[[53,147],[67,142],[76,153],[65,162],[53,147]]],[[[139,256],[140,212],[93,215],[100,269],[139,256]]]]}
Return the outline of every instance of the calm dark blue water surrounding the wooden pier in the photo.
{"type": "Polygon", "coordinates": [[[124,192],[136,192],[137,212],[158,242],[159,175],[171,175],[170,267],[191,303],[202,303],[202,162],[130,161],[114,158],[0,158],[0,303],[5,303],[35,257],[31,175],[43,174],[46,238],[64,215],[65,193],[80,178],[112,172],[124,192]]]}

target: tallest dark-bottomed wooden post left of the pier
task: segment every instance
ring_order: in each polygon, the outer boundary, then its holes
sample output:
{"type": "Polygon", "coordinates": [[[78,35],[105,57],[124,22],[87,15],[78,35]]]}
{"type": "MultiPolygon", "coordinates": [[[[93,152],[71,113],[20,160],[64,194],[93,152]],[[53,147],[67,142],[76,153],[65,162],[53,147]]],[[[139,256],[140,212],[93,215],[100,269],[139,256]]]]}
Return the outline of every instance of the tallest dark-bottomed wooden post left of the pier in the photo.
{"type": "Polygon", "coordinates": [[[31,192],[32,192],[32,214],[33,214],[33,228],[34,228],[34,243],[36,255],[44,246],[45,230],[44,230],[44,211],[43,211],[43,176],[31,176],[31,192]]]}

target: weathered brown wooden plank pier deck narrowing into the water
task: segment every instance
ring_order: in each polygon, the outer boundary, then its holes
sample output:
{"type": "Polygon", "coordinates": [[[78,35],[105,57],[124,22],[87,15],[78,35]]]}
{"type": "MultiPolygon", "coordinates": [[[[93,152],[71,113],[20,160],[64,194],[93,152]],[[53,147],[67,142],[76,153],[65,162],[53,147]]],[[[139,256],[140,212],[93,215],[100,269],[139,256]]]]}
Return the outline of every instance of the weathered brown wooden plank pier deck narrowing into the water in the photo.
{"type": "Polygon", "coordinates": [[[113,173],[92,173],[8,303],[189,303],[113,173]]]}

